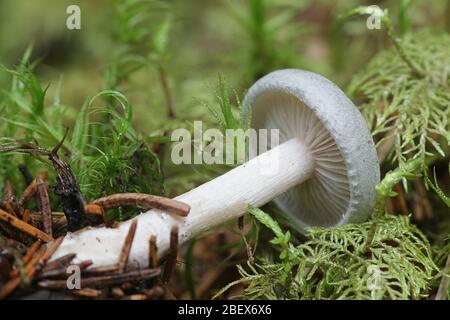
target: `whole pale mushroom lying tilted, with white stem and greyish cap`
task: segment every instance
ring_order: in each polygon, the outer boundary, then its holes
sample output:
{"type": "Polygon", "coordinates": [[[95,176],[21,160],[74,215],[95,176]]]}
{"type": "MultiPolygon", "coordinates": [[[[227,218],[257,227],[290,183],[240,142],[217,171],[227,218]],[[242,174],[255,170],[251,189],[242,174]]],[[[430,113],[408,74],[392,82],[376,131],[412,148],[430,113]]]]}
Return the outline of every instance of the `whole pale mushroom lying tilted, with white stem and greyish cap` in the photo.
{"type": "MultiPolygon", "coordinates": [[[[148,263],[149,237],[156,236],[164,255],[170,230],[179,227],[179,242],[203,234],[243,215],[248,205],[271,200],[300,230],[362,222],[375,203],[379,165],[364,118],[347,96],[324,77],[302,70],[272,72],[258,80],[244,99],[252,127],[279,129],[280,144],[250,161],[176,197],[187,203],[187,217],[157,209],[140,214],[129,264],[148,263]],[[276,163],[275,174],[264,173],[276,163]]],[[[256,151],[256,145],[250,145],[256,151]]],[[[117,228],[89,228],[66,235],[53,259],[76,253],[95,267],[114,264],[131,220],[117,228]]]]}

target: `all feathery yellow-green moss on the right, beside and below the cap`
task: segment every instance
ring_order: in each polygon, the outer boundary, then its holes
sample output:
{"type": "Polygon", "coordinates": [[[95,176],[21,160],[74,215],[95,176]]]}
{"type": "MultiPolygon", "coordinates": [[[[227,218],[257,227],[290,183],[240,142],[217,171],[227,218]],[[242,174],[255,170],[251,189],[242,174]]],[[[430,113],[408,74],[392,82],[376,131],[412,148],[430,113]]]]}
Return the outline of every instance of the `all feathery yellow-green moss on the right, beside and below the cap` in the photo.
{"type": "MultiPolygon", "coordinates": [[[[361,101],[377,146],[392,144],[388,168],[377,186],[370,221],[335,228],[311,228],[307,240],[294,245],[271,215],[257,208],[249,212],[275,238],[273,254],[256,264],[238,266],[244,299],[426,299],[445,274],[448,245],[430,246],[406,216],[386,214],[386,201],[397,194],[396,184],[424,177],[439,198],[448,197],[437,179],[427,177],[430,165],[448,156],[450,37],[430,31],[393,35],[387,10],[380,11],[393,48],[384,50],[354,76],[349,93],[361,101]]],[[[373,14],[361,7],[352,14],[373,14]]],[[[405,188],[407,190],[407,188],[405,188]]]]}

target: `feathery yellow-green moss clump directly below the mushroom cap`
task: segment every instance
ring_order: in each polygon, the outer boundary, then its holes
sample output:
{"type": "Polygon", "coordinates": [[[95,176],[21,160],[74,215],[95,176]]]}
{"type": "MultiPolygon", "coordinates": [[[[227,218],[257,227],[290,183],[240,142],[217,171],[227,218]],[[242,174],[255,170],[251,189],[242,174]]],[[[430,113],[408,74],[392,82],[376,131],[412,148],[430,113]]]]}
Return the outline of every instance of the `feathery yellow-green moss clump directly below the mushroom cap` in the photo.
{"type": "MultiPolygon", "coordinates": [[[[280,238],[275,220],[260,210],[256,218],[280,238]]],[[[428,240],[408,217],[382,216],[363,224],[311,228],[308,236],[301,245],[288,243],[292,276],[288,286],[283,282],[286,260],[268,257],[249,268],[238,266],[242,279],[230,286],[244,283],[241,298],[245,299],[427,298],[437,267],[428,240]],[[367,247],[375,222],[377,229],[367,247]]]]}

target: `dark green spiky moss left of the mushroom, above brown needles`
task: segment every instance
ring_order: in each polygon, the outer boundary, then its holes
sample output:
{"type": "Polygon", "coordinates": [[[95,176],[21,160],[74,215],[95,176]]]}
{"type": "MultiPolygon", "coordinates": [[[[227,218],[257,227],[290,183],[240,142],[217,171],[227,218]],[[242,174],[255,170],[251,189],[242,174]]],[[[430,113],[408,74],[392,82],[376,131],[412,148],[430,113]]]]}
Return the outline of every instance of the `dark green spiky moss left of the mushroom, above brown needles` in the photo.
{"type": "MultiPolygon", "coordinates": [[[[134,130],[128,99],[115,90],[101,91],[75,113],[74,107],[59,102],[57,90],[53,102],[45,104],[47,90],[28,62],[30,52],[15,69],[0,69],[11,79],[10,89],[3,91],[0,100],[0,189],[6,180],[11,180],[18,191],[25,188],[18,170],[21,163],[27,164],[32,174],[49,171],[50,181],[54,180],[48,161],[11,153],[9,147],[25,141],[52,149],[62,140],[68,122],[74,125],[61,155],[65,153],[87,201],[118,192],[163,193],[159,159],[150,144],[154,137],[134,130]]],[[[137,212],[128,210],[124,214],[119,210],[114,217],[123,220],[137,212]]]]}

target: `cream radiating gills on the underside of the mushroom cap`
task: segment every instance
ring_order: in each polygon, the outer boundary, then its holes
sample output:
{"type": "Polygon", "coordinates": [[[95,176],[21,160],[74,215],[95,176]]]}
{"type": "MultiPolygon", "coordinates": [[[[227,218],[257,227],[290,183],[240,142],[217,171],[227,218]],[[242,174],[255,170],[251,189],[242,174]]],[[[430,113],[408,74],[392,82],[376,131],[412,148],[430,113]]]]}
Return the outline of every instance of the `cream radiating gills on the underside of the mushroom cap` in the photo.
{"type": "MultiPolygon", "coordinates": [[[[268,129],[268,132],[278,129],[280,144],[297,137],[309,148],[316,162],[312,176],[275,198],[277,205],[302,229],[337,225],[350,201],[347,167],[322,121],[296,96],[283,91],[263,92],[253,101],[252,109],[258,110],[253,113],[253,128],[268,129]]],[[[250,148],[256,150],[255,145],[250,148]]]]}

